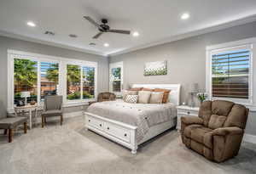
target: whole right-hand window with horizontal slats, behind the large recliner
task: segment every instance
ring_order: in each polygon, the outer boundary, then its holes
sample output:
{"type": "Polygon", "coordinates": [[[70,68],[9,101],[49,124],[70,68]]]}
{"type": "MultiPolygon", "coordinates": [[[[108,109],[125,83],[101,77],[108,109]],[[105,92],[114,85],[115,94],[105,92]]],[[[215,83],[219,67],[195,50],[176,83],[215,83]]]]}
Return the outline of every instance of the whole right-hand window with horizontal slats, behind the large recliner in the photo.
{"type": "Polygon", "coordinates": [[[256,38],[207,47],[206,90],[209,99],[224,99],[256,109],[256,38]],[[254,47],[253,47],[254,45],[254,47]]]}

